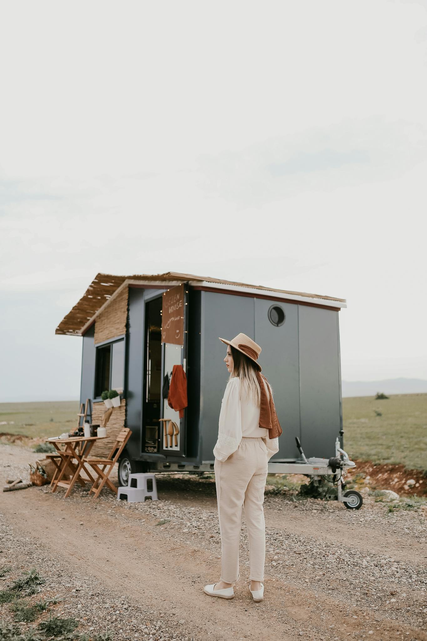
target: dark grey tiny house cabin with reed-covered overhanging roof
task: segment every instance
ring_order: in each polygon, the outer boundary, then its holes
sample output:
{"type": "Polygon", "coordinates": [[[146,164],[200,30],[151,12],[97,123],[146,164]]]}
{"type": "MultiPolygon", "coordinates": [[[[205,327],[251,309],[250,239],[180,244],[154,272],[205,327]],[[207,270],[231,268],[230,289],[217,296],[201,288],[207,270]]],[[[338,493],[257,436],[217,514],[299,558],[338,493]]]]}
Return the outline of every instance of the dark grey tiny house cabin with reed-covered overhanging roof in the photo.
{"type": "Polygon", "coordinates": [[[295,437],[307,456],[335,453],[343,307],[341,298],[193,274],[97,274],[56,334],[83,337],[80,401],[91,401],[90,422],[101,423],[106,411],[102,392],[120,394],[108,439],[95,447],[103,456],[121,428],[131,429],[119,461],[120,485],[127,485],[130,472],[213,470],[229,378],[218,337],[245,333],[261,345],[259,362],[273,388],[283,433],[269,465],[280,472],[275,464],[300,458],[295,437]],[[185,407],[168,403],[174,377],[186,383],[185,407]]]}

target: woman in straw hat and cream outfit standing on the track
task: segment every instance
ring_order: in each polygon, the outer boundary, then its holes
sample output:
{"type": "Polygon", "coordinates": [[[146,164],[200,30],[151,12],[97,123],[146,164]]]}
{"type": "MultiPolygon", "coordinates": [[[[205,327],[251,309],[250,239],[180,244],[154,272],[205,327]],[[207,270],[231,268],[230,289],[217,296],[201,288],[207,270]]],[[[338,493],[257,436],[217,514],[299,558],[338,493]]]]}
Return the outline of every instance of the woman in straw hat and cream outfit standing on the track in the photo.
{"type": "Polygon", "coordinates": [[[277,419],[273,393],[261,365],[261,347],[246,334],[227,345],[224,358],[230,372],[219,419],[218,440],[214,447],[214,470],[218,519],[220,522],[222,571],[220,581],[205,585],[210,596],[232,599],[233,583],[239,574],[241,510],[245,509],[250,558],[250,592],[254,601],[264,598],[266,536],[264,488],[268,461],[278,452],[282,428],[277,419]]]}

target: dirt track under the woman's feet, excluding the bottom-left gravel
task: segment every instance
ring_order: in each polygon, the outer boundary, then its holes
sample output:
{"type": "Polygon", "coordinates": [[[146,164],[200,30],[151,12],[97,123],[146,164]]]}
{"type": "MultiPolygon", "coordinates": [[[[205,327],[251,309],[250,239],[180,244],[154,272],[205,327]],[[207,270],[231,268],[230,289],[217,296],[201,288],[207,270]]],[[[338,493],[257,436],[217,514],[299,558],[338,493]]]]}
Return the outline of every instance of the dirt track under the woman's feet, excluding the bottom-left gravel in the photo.
{"type": "Polygon", "coordinates": [[[225,601],[202,591],[220,576],[214,483],[170,476],[159,478],[157,488],[161,500],[145,504],[117,503],[107,493],[95,502],[80,489],[64,500],[46,487],[29,488],[1,495],[1,512],[31,535],[31,545],[65,555],[117,595],[163,609],[178,627],[185,620],[195,640],[427,641],[422,514],[409,515],[419,524],[408,533],[407,515],[384,528],[377,506],[352,512],[337,503],[325,508],[321,501],[295,504],[267,495],[265,597],[255,604],[246,585],[244,519],[236,597],[225,601]],[[373,565],[380,558],[384,565],[373,565]]]}

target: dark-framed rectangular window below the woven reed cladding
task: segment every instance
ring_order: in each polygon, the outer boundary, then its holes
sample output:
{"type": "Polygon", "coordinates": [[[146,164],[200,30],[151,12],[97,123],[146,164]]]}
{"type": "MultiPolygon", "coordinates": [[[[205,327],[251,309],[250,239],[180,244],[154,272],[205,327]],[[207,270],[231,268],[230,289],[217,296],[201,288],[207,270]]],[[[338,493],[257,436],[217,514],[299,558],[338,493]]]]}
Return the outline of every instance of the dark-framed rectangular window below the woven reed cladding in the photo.
{"type": "Polygon", "coordinates": [[[97,347],[95,359],[95,398],[104,390],[117,390],[123,393],[124,386],[125,342],[116,340],[108,345],[97,347]]]}

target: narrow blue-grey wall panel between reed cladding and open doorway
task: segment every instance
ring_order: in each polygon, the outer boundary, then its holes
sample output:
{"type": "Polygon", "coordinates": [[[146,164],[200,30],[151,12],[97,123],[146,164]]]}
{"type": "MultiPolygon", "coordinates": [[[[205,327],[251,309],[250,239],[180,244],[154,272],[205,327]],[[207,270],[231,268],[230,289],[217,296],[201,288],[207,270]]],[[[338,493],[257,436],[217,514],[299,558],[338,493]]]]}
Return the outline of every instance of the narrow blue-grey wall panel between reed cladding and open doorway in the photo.
{"type": "Polygon", "coordinates": [[[142,390],[144,360],[145,290],[129,287],[129,315],[126,354],[126,426],[132,430],[127,451],[133,458],[141,454],[142,390]]]}

